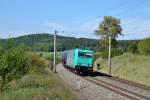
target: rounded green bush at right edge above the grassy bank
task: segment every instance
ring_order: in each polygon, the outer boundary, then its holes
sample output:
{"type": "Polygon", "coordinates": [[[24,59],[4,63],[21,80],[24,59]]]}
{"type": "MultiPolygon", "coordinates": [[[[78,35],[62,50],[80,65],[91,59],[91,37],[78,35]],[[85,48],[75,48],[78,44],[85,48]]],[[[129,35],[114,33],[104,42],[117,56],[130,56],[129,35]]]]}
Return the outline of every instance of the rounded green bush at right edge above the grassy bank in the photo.
{"type": "Polygon", "coordinates": [[[139,53],[150,55],[150,38],[144,39],[138,43],[139,53]]]}

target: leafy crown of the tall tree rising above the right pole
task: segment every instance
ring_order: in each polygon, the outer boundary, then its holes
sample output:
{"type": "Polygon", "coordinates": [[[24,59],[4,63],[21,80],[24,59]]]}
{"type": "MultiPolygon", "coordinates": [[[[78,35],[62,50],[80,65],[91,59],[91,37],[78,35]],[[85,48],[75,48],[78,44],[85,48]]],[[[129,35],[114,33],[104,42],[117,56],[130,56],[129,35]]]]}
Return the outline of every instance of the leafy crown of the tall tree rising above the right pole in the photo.
{"type": "Polygon", "coordinates": [[[112,16],[105,16],[104,20],[99,24],[98,29],[95,31],[95,34],[101,36],[105,41],[108,41],[108,37],[111,36],[112,40],[115,41],[112,45],[115,46],[117,43],[116,38],[119,35],[122,35],[120,20],[112,16]]]}

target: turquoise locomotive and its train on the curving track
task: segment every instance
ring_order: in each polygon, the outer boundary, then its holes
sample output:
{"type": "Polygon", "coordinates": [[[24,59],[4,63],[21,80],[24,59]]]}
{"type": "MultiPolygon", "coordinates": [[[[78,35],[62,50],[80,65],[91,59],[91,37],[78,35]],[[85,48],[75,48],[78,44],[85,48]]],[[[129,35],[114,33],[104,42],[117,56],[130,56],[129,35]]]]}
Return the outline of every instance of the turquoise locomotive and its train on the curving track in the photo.
{"type": "Polygon", "coordinates": [[[72,49],[63,52],[63,64],[76,73],[93,71],[93,51],[84,49],[72,49]]]}

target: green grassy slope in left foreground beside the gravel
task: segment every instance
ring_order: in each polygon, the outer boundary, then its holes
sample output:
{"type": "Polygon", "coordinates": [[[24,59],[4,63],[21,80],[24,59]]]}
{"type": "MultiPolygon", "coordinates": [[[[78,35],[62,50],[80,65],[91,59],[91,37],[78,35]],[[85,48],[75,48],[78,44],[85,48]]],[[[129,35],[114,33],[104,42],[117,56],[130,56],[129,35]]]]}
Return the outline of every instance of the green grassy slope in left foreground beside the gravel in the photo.
{"type": "Polygon", "coordinates": [[[76,100],[51,72],[50,61],[35,54],[29,61],[29,72],[21,79],[10,82],[0,94],[0,100],[76,100]]]}

